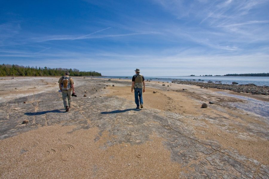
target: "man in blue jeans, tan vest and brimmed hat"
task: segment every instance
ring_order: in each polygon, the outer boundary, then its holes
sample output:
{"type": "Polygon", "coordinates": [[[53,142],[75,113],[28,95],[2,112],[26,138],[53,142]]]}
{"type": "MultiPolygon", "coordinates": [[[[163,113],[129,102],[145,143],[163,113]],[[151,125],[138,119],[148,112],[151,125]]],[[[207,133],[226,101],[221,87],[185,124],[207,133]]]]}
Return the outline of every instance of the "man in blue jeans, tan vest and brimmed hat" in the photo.
{"type": "Polygon", "coordinates": [[[140,107],[143,108],[142,91],[145,92],[145,78],[143,75],[140,74],[139,69],[136,69],[135,73],[136,74],[132,78],[132,90],[131,90],[131,92],[133,92],[133,90],[135,90],[136,109],[140,109],[140,107]]]}

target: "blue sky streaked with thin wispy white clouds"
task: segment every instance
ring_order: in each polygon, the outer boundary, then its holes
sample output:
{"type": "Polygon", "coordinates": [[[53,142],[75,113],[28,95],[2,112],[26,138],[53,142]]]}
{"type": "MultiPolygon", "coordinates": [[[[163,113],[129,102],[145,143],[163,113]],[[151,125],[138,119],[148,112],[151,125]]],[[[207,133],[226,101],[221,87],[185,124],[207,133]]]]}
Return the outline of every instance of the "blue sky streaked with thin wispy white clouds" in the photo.
{"type": "Polygon", "coordinates": [[[0,1],[0,63],[107,76],[269,72],[268,0],[0,1]]]}

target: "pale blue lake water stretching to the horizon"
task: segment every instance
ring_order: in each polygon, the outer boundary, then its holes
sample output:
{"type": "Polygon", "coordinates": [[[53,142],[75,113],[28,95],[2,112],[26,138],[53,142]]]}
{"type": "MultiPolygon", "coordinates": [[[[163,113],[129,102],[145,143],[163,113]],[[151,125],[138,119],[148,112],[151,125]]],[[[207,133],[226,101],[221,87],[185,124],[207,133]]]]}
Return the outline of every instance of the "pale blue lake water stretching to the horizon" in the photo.
{"type": "MultiPolygon", "coordinates": [[[[249,76],[144,76],[145,80],[152,81],[173,81],[173,80],[183,80],[183,81],[192,81],[195,80],[201,83],[207,83],[207,81],[221,81],[222,84],[232,84],[232,82],[237,82],[238,84],[256,84],[258,86],[269,86],[269,77],[249,77],[249,76]],[[198,80],[204,81],[198,81],[198,80]]],[[[100,78],[121,78],[121,79],[130,79],[132,76],[103,76],[100,78]]]]}

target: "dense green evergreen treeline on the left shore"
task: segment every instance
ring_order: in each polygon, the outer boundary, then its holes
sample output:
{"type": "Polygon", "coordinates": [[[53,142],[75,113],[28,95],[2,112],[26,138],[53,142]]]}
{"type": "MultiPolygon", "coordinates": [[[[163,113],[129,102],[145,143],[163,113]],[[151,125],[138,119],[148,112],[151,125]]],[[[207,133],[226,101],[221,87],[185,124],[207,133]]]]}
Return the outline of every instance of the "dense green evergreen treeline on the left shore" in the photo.
{"type": "Polygon", "coordinates": [[[19,65],[0,65],[0,76],[62,76],[65,72],[69,72],[70,76],[101,76],[101,73],[95,71],[80,72],[77,69],[65,68],[37,68],[37,67],[24,67],[19,65]]]}

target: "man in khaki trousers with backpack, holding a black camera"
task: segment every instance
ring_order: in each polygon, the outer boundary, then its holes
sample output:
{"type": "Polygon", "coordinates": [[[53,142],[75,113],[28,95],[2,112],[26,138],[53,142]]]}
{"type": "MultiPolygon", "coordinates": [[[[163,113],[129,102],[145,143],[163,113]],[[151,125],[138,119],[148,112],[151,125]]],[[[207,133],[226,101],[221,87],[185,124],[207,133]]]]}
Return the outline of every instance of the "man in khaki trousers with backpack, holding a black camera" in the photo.
{"type": "Polygon", "coordinates": [[[75,95],[74,81],[71,77],[69,77],[69,75],[69,72],[65,72],[65,75],[62,76],[58,81],[59,88],[62,91],[62,100],[66,112],[68,112],[70,108],[72,90],[72,95],[75,95]]]}

